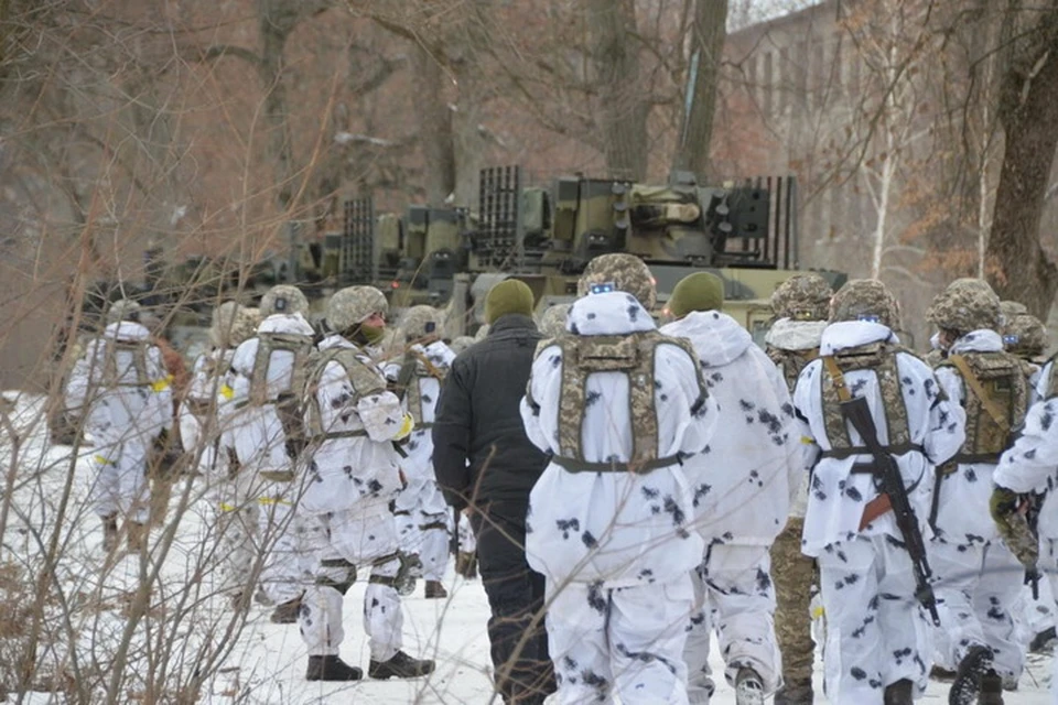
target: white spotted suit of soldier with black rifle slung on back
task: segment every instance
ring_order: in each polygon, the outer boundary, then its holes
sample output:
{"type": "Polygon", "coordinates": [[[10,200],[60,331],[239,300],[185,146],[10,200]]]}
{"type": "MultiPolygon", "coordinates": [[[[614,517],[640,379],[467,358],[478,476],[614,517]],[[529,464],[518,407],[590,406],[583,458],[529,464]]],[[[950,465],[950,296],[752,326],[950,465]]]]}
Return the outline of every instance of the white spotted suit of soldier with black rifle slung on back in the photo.
{"type": "MultiPolygon", "coordinates": [[[[823,332],[820,355],[886,340],[897,343],[879,323],[833,323],[823,332]]],[[[944,398],[932,370],[914,355],[897,352],[896,371],[910,443],[921,451],[910,449],[895,459],[928,538],[933,465],[962,446],[965,416],[961,406],[944,398]]],[[[833,446],[823,416],[824,377],[829,376],[822,360],[810,362],[798,379],[794,404],[808,421],[814,443],[825,452],[833,446]]],[[[844,378],[852,395],[867,399],[878,441],[887,445],[887,414],[876,371],[846,371],[844,378]]],[[[845,426],[853,446],[862,446],[851,424],[845,426]]],[[[931,622],[914,598],[911,562],[898,543],[902,536],[893,512],[860,530],[864,507],[878,492],[873,476],[853,474],[852,466],[872,460],[870,455],[824,454],[812,471],[805,518],[802,551],[819,563],[827,614],[824,685],[827,697],[835,703],[881,704],[885,687],[904,679],[921,693],[932,654],[931,622]]]]}

